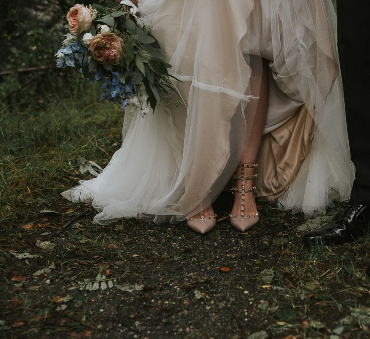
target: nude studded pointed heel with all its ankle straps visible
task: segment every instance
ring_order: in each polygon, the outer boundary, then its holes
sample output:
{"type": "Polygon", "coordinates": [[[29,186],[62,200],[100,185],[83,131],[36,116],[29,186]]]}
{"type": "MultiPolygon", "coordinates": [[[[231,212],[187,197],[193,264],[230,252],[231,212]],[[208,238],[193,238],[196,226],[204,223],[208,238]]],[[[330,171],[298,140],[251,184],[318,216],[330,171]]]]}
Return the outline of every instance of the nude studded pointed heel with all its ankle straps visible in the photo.
{"type": "MultiPolygon", "coordinates": [[[[240,175],[234,175],[234,180],[241,180],[242,181],[242,187],[236,188],[233,187],[231,189],[232,194],[241,194],[242,195],[242,203],[241,203],[241,209],[240,209],[240,215],[236,214],[230,214],[230,224],[234,228],[236,228],[238,231],[245,232],[254,225],[256,225],[259,222],[259,214],[258,212],[250,215],[245,215],[245,195],[247,193],[254,194],[255,187],[246,188],[245,187],[245,180],[252,180],[257,177],[258,174],[252,174],[252,175],[244,175],[244,169],[245,168],[256,168],[258,167],[258,164],[238,164],[238,168],[241,168],[241,174],[240,175]]],[[[234,184],[234,186],[236,186],[234,184]]]]}

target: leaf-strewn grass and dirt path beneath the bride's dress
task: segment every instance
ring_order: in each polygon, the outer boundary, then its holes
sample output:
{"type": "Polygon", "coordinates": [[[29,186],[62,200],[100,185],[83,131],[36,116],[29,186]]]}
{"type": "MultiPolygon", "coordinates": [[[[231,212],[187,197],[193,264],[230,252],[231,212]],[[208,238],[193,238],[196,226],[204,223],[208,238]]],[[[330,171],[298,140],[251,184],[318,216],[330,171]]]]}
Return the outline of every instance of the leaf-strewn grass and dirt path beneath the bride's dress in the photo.
{"type": "Polygon", "coordinates": [[[268,204],[246,234],[227,221],[205,236],[184,224],[100,226],[90,204],[64,200],[61,191],[89,177],[78,170],[81,157],[105,166],[121,144],[122,112],[98,103],[94,89],[84,95],[85,85],[2,108],[2,337],[370,335],[368,234],[307,249],[302,215],[268,204]]]}

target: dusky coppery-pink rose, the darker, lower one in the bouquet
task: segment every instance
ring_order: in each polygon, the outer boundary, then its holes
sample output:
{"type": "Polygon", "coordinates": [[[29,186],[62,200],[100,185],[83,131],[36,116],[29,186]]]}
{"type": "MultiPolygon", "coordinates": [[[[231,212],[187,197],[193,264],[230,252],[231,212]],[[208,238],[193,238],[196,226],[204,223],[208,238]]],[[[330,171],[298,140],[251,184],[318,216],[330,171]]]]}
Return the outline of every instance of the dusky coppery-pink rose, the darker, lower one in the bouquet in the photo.
{"type": "Polygon", "coordinates": [[[114,33],[98,34],[90,41],[90,52],[102,64],[118,65],[123,55],[123,42],[114,33]]]}

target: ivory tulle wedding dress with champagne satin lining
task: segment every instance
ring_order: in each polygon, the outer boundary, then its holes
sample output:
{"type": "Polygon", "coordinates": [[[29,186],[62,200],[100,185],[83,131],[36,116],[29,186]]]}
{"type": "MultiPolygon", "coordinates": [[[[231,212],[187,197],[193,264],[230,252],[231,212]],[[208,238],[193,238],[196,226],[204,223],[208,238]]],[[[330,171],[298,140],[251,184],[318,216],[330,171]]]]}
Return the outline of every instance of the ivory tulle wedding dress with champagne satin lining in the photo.
{"type": "Polygon", "coordinates": [[[62,195],[92,201],[96,223],[178,222],[207,208],[240,160],[270,60],[259,191],[285,209],[323,212],[354,179],[330,0],[139,0],[182,106],[125,112],[123,143],[103,173],[62,195]],[[331,193],[335,192],[335,196],[331,193]]]}

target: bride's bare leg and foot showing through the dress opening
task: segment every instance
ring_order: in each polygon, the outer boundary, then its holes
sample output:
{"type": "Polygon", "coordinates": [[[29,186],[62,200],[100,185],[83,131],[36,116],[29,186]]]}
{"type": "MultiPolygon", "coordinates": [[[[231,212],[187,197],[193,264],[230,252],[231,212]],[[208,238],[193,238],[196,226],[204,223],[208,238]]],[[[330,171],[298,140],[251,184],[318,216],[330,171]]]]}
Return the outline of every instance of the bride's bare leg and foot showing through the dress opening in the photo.
{"type": "MultiPolygon", "coordinates": [[[[255,117],[253,125],[251,126],[251,133],[244,145],[244,151],[241,163],[254,164],[257,158],[259,145],[262,139],[262,132],[265,125],[267,106],[268,106],[268,61],[259,56],[250,56],[250,67],[252,69],[251,76],[251,91],[252,95],[259,97],[258,100],[251,101],[246,107],[246,119],[248,124],[248,112],[255,110],[255,117]]],[[[244,175],[252,175],[254,168],[244,168],[244,175]]],[[[241,169],[238,168],[236,175],[240,175],[241,169]]],[[[253,187],[253,180],[245,180],[245,187],[253,187]]],[[[241,188],[241,180],[236,180],[236,188],[241,188]]],[[[235,194],[234,204],[231,214],[240,214],[241,210],[241,194],[235,194]]],[[[245,215],[252,215],[256,213],[256,202],[253,194],[245,195],[245,215]]]]}

